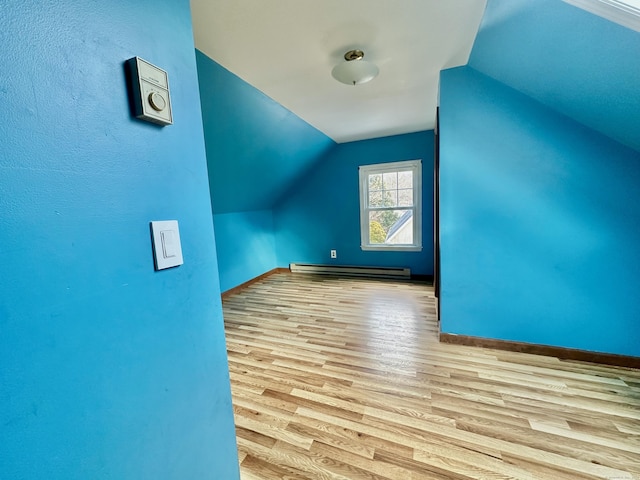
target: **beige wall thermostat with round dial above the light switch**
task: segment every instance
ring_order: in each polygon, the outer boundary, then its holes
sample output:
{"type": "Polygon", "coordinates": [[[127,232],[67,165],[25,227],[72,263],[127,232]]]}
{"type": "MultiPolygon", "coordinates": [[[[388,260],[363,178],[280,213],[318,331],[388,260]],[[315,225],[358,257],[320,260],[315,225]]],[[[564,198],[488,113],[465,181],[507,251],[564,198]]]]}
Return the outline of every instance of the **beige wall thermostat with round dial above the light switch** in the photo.
{"type": "Polygon", "coordinates": [[[140,57],[127,60],[131,75],[131,94],[136,118],[171,125],[171,99],[167,72],[140,57]]]}

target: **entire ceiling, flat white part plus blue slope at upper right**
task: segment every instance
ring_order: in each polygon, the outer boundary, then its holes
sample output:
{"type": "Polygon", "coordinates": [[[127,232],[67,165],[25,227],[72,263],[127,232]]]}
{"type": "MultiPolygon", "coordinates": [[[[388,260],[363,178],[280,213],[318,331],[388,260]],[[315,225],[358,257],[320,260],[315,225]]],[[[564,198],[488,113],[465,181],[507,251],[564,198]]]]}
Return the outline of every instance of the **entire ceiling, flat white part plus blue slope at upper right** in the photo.
{"type": "Polygon", "coordinates": [[[640,0],[191,6],[196,48],[337,142],[432,129],[440,70],[468,63],[640,150],[640,0]],[[370,83],[331,77],[353,48],[380,67],[370,83]]]}

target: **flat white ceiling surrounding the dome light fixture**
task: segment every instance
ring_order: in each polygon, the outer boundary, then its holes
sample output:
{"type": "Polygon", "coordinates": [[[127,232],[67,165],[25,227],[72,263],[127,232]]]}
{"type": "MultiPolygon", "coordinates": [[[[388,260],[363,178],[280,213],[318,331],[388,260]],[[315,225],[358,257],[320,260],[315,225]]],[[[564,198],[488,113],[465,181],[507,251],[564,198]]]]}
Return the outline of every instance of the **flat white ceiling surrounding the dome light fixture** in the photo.
{"type": "Polygon", "coordinates": [[[307,123],[349,142],[431,130],[439,72],[465,65],[486,0],[191,0],[196,48],[307,123]],[[358,48],[380,68],[331,69],[358,48]]]}

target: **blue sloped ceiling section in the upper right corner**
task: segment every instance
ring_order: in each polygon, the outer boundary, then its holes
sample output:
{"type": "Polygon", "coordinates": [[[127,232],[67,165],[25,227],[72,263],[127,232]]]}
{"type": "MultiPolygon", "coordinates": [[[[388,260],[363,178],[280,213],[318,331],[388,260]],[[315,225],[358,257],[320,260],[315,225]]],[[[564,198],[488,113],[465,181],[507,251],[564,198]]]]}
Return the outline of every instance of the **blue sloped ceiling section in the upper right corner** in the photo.
{"type": "Polygon", "coordinates": [[[640,33],[558,0],[489,0],[469,66],[640,151],[640,33]]]}

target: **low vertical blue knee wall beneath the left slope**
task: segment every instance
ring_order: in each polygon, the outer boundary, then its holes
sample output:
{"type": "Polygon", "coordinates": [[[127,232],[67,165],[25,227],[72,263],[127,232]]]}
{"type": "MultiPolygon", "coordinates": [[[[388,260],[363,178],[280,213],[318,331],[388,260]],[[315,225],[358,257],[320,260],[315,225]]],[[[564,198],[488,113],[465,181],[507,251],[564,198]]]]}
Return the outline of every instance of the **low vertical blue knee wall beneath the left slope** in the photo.
{"type": "Polygon", "coordinates": [[[271,210],[223,213],[213,222],[223,292],[278,266],[271,210]]]}

